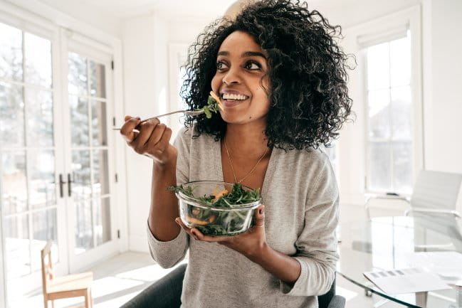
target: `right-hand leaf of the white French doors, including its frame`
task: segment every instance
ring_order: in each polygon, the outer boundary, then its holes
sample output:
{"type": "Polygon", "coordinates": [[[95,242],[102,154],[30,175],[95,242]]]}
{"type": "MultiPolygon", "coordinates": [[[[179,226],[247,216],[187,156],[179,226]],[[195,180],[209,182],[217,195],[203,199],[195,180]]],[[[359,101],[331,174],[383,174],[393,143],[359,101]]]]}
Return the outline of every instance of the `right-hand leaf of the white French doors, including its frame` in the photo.
{"type": "MultiPolygon", "coordinates": [[[[67,35],[66,35],[67,36],[67,35]]],[[[65,94],[66,176],[70,271],[117,252],[112,133],[112,56],[68,40],[65,94]]]]}

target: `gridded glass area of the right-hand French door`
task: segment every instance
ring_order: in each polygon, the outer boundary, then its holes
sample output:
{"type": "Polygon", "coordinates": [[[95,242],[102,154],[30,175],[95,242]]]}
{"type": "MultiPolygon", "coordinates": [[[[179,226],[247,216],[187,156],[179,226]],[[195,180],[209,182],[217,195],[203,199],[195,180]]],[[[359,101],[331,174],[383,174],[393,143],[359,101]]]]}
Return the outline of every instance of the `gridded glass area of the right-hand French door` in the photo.
{"type": "Polygon", "coordinates": [[[105,65],[68,54],[75,254],[111,240],[105,65]]]}

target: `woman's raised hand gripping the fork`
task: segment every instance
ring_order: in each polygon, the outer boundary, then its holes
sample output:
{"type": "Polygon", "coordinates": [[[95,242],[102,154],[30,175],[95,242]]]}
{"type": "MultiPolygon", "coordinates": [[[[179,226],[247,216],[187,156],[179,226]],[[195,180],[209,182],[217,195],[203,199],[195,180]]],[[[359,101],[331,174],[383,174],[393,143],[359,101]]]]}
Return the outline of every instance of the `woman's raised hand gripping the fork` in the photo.
{"type": "Polygon", "coordinates": [[[177,149],[169,143],[172,129],[157,118],[140,123],[140,117],[125,116],[120,134],[127,144],[138,154],[148,156],[158,164],[176,164],[177,149]],[[135,128],[140,132],[133,132],[135,128]]]}

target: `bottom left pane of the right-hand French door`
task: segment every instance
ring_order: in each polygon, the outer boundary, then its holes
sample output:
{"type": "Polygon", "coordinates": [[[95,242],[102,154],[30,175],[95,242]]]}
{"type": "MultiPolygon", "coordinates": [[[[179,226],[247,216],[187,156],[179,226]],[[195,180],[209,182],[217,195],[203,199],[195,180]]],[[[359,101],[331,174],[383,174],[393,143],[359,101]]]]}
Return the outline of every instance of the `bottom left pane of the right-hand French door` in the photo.
{"type": "Polygon", "coordinates": [[[75,254],[93,248],[93,218],[91,201],[75,203],[75,254]]]}

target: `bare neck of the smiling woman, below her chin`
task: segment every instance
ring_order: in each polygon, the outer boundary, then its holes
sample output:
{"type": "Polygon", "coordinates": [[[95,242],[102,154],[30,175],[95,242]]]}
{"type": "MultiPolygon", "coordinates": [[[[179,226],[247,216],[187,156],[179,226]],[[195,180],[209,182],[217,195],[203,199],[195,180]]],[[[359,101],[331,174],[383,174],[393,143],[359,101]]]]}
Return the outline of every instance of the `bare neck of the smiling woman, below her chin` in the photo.
{"type": "Polygon", "coordinates": [[[256,159],[268,148],[266,125],[228,124],[224,141],[233,158],[256,159]]]}

